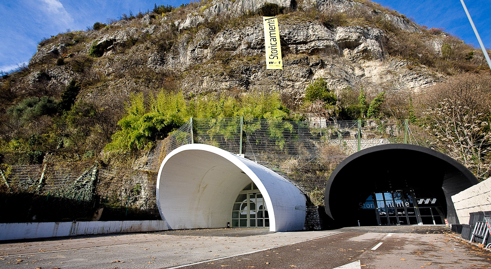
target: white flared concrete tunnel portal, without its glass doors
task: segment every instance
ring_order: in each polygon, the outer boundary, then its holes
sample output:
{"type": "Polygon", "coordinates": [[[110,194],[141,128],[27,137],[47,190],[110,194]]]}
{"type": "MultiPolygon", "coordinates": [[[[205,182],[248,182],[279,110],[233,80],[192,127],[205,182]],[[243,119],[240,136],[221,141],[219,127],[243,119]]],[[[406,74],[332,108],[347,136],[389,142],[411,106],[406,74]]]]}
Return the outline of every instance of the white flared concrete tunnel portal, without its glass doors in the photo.
{"type": "Polygon", "coordinates": [[[302,230],[305,195],[272,170],[204,144],[170,152],[157,178],[157,206],[169,229],[223,228],[238,193],[254,182],[268,208],[270,231],[302,230]]]}

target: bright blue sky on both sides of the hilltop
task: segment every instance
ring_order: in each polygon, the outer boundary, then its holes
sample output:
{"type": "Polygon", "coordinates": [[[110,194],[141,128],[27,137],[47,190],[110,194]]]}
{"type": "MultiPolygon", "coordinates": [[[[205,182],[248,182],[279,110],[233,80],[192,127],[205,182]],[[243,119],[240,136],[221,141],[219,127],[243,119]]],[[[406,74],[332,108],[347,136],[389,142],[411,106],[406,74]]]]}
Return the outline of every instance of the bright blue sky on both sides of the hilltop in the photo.
{"type": "MultiPolygon", "coordinates": [[[[154,3],[178,6],[182,0],[1,0],[0,70],[9,71],[27,62],[43,37],[67,29],[85,30],[95,22],[117,19],[153,9],[154,3]]],[[[419,25],[444,28],[479,46],[460,0],[376,0],[395,9],[419,25]]],[[[465,0],[484,45],[491,48],[491,0],[465,0]]]]}

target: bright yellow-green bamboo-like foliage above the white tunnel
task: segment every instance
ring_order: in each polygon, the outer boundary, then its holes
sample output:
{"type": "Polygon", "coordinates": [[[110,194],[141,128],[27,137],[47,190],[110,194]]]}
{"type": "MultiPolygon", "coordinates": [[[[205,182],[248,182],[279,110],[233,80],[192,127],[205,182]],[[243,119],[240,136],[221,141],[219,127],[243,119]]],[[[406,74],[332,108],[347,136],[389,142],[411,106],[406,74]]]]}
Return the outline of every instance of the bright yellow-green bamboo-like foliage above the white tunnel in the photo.
{"type": "Polygon", "coordinates": [[[121,130],[112,136],[106,146],[111,152],[130,152],[152,145],[193,118],[217,118],[212,128],[220,128],[219,119],[244,116],[267,120],[295,118],[281,105],[277,93],[251,92],[237,99],[231,96],[208,94],[187,100],[182,92],[161,91],[148,98],[142,93],[132,94],[127,113],[118,122],[121,130]]]}

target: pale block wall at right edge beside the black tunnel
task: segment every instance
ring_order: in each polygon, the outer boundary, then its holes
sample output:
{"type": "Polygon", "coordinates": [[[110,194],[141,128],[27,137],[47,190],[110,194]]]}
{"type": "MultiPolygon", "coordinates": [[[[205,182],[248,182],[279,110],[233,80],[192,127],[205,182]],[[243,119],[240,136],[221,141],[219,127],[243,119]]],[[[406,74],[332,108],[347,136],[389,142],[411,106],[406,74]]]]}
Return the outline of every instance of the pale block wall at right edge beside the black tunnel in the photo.
{"type": "Polygon", "coordinates": [[[470,212],[491,211],[491,178],[452,196],[461,224],[468,224],[470,212]]]}

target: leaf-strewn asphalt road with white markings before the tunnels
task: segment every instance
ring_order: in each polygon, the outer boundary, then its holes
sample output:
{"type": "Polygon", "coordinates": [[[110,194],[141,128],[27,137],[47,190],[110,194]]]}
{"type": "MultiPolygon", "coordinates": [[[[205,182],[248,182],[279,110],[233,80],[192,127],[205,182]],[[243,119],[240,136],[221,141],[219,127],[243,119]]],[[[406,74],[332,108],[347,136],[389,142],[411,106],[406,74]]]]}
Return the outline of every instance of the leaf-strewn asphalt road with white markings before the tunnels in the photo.
{"type": "Polygon", "coordinates": [[[491,269],[490,251],[456,236],[441,226],[398,226],[288,233],[199,229],[3,241],[0,268],[491,269]]]}

